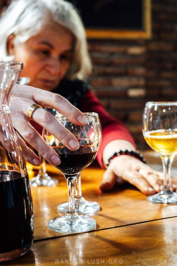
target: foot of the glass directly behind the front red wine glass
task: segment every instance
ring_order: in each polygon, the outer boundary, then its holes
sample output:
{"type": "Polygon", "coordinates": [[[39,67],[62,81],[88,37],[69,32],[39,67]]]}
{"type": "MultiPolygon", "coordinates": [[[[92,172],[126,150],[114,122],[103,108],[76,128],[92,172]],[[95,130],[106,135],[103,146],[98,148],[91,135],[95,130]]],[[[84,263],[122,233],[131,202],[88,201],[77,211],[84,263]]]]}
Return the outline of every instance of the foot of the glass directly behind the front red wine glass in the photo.
{"type": "MultiPolygon", "coordinates": [[[[85,200],[82,203],[75,201],[76,212],[79,215],[95,215],[100,211],[100,205],[95,201],[85,200]]],[[[66,213],[68,208],[68,202],[63,202],[57,206],[57,210],[60,213],[66,213]]]]}

